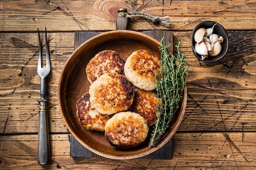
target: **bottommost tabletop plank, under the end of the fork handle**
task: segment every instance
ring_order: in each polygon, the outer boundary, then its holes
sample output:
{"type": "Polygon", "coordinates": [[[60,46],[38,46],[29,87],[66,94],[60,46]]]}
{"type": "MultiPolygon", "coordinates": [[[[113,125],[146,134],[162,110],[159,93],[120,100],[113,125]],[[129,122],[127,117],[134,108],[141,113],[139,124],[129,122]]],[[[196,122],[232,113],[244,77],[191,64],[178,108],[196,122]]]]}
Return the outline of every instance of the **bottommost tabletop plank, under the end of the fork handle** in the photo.
{"type": "MultiPolygon", "coordinates": [[[[173,136],[172,160],[72,158],[70,134],[50,134],[47,169],[239,169],[256,167],[255,132],[179,133],[173,136]]],[[[1,170],[41,169],[36,161],[37,135],[0,136],[1,170]]]]}

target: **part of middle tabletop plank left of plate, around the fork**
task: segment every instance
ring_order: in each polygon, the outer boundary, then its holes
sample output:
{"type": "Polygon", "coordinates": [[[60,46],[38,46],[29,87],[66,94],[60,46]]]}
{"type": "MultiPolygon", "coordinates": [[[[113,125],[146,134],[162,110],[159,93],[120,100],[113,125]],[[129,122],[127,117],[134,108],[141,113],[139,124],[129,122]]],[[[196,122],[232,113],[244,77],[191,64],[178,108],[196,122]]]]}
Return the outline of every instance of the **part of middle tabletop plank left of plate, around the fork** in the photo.
{"type": "MultiPolygon", "coordinates": [[[[49,132],[67,132],[58,108],[57,88],[63,66],[74,51],[74,33],[65,33],[65,36],[49,33],[47,36],[52,66],[46,79],[49,132]]],[[[0,133],[37,133],[37,100],[40,98],[40,78],[36,72],[38,36],[36,33],[1,33],[0,39],[0,133]]],[[[44,45],[43,35],[41,40],[44,45]]]]}

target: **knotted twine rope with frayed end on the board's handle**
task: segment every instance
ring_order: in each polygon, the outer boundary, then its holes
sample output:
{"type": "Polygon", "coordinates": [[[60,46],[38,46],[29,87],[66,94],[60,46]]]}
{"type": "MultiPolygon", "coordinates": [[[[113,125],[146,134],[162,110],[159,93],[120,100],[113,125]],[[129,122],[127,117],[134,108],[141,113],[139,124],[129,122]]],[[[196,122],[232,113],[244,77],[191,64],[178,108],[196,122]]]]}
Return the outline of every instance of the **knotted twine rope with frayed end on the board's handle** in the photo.
{"type": "Polygon", "coordinates": [[[158,16],[153,16],[153,15],[150,15],[150,14],[144,13],[144,12],[126,13],[126,12],[120,11],[118,13],[118,17],[121,17],[121,16],[127,17],[127,18],[142,17],[147,20],[151,20],[153,22],[153,24],[155,24],[155,25],[161,24],[161,25],[164,25],[165,27],[170,27],[170,25],[171,25],[171,20],[170,20],[169,16],[164,16],[164,17],[159,18],[158,16]]]}

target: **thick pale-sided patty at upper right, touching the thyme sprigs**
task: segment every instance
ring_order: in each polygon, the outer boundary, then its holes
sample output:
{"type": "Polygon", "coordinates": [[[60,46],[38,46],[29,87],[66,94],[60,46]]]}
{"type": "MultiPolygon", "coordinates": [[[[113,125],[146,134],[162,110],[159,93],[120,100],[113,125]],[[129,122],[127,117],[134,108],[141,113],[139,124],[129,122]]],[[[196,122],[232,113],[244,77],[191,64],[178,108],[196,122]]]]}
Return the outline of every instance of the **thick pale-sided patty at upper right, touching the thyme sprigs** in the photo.
{"type": "Polygon", "coordinates": [[[156,88],[155,73],[158,73],[160,60],[150,51],[134,51],[126,60],[124,65],[124,75],[136,87],[144,90],[153,90],[156,88]]]}

